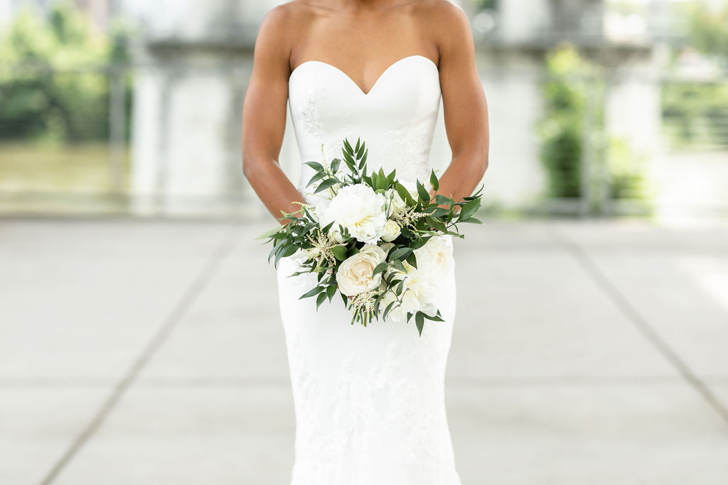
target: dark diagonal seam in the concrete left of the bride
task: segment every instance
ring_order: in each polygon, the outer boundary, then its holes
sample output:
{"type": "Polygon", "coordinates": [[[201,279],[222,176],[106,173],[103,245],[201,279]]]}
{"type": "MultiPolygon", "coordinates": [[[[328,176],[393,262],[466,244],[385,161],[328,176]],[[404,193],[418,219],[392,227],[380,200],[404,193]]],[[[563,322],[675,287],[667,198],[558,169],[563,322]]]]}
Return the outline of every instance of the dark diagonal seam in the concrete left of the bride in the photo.
{"type": "Polygon", "coordinates": [[[116,382],[114,389],[111,394],[103,401],[100,408],[96,411],[90,422],[84,427],[84,429],[76,436],[74,441],[68,446],[66,452],[60,456],[55,462],[52,468],[48,471],[46,476],[40,482],[40,485],[50,485],[58,478],[60,472],[68,465],[71,460],[74,459],[80,449],[86,444],[87,441],[93,436],[98,430],[100,425],[106,420],[108,414],[114,410],[116,404],[124,396],[124,393],[130,388],[132,382],[141,373],[141,370],[146,366],[151,356],[159,349],[163,342],[169,337],[171,332],[175,329],[177,324],[181,321],[182,317],[186,314],[187,310],[191,307],[194,300],[197,299],[199,294],[205,289],[205,286],[210,282],[215,272],[218,270],[221,262],[227,257],[232,251],[237,242],[237,231],[239,230],[240,223],[234,223],[232,228],[223,236],[223,239],[218,246],[215,247],[213,253],[205,262],[202,270],[197,274],[192,283],[183,292],[180,299],[175,303],[172,310],[170,311],[167,318],[162,321],[162,325],[159,326],[157,332],[151,337],[151,340],[142,349],[141,353],[132,362],[132,365],[124,372],[124,375],[119,382],[116,382]]]}

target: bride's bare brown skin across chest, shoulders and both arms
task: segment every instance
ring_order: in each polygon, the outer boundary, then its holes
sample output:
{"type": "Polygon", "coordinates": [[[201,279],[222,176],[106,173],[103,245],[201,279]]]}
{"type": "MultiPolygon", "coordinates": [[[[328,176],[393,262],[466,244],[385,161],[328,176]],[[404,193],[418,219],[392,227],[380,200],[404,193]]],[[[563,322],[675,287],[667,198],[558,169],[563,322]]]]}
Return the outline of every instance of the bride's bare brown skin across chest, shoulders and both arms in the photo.
{"type": "Polygon", "coordinates": [[[437,193],[459,201],[488,168],[488,107],[462,8],[448,0],[293,0],[266,13],[242,108],[242,171],[274,217],[305,201],[278,163],[293,69],[322,60],[368,92],[389,65],[414,54],[440,71],[453,157],[437,193]]]}

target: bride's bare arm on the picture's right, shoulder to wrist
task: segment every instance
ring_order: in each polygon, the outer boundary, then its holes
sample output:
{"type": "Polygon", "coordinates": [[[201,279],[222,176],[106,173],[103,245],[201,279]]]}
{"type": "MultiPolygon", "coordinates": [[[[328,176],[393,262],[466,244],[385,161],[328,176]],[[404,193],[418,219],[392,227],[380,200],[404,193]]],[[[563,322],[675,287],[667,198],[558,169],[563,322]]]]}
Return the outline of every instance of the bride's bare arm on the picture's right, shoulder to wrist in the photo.
{"type": "MultiPolygon", "coordinates": [[[[480,185],[488,168],[488,105],[475,68],[475,46],[467,15],[442,2],[436,13],[440,29],[440,89],[453,158],[440,177],[437,193],[459,201],[480,185]]],[[[435,191],[432,191],[432,195],[435,191]]]]}

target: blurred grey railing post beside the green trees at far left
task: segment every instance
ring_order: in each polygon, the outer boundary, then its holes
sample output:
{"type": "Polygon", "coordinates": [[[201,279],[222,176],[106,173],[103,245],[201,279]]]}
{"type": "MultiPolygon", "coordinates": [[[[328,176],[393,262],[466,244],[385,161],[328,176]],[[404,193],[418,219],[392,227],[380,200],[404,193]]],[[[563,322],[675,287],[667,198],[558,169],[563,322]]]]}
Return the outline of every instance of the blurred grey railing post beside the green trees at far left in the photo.
{"type": "Polygon", "coordinates": [[[109,71],[111,92],[109,95],[109,157],[111,160],[111,192],[120,195],[124,191],[124,70],[112,66],[109,71]]]}

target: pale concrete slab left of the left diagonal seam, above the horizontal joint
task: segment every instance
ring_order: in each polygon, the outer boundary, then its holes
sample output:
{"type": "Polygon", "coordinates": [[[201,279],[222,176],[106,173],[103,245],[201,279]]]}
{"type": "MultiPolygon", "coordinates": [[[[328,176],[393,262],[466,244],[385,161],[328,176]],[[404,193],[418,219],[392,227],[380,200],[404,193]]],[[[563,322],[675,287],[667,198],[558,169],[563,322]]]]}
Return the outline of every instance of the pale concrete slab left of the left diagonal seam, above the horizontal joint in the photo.
{"type": "Polygon", "coordinates": [[[164,226],[4,222],[0,377],[121,375],[229,231],[164,226]]]}

